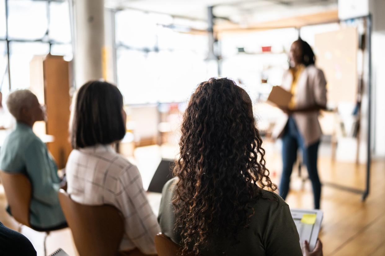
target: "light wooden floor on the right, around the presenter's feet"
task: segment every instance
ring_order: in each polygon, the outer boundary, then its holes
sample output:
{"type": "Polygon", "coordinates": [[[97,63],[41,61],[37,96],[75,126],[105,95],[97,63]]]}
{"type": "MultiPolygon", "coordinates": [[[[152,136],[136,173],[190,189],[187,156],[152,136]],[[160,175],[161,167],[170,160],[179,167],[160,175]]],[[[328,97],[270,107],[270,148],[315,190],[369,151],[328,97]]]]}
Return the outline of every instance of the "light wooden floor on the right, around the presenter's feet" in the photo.
{"type": "MultiPolygon", "coordinates": [[[[320,170],[323,182],[363,188],[364,166],[330,164],[327,160],[321,163],[320,166],[325,168],[320,170]]],[[[384,161],[373,162],[371,186],[365,202],[361,195],[326,185],[322,187],[324,219],[320,239],[324,255],[385,255],[384,161]]],[[[293,189],[286,201],[291,207],[310,208],[310,192],[310,186],[293,189]]]]}

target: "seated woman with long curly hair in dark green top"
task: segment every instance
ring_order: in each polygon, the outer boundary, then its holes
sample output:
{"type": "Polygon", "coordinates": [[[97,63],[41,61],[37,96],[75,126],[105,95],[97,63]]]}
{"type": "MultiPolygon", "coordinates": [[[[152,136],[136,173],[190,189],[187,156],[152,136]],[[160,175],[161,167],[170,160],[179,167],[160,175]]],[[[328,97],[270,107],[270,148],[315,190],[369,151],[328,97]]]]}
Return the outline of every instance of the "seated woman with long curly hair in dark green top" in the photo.
{"type": "Polygon", "coordinates": [[[302,255],[246,91],[227,78],[199,84],[181,130],[176,177],[162,191],[162,233],[187,255],[302,255]]]}

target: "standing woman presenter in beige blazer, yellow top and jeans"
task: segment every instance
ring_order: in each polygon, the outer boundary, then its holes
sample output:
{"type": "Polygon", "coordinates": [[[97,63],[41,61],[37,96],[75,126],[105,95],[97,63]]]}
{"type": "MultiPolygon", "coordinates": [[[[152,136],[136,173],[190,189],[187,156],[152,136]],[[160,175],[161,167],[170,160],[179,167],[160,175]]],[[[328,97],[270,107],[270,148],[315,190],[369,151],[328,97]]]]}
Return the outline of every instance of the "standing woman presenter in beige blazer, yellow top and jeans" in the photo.
{"type": "Polygon", "coordinates": [[[326,80],[321,69],[315,66],[315,55],[310,45],[298,39],[290,48],[290,68],[282,79],[282,87],[293,94],[285,117],[276,125],[274,135],[282,139],[283,171],[279,187],[280,195],[286,198],[290,175],[297,159],[297,150],[302,150],[314,193],[314,208],[320,208],[321,183],[317,170],[318,146],[321,126],[318,121],[320,109],[326,109],[326,80]]]}

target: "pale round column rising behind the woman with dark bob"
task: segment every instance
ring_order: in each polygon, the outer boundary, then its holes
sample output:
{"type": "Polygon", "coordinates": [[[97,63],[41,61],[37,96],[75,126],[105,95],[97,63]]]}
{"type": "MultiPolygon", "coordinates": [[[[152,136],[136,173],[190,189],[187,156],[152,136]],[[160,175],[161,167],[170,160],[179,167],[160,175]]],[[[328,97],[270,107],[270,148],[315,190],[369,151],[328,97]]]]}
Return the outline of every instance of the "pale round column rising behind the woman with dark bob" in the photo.
{"type": "Polygon", "coordinates": [[[75,0],[75,82],[103,78],[104,0],[75,0]]]}

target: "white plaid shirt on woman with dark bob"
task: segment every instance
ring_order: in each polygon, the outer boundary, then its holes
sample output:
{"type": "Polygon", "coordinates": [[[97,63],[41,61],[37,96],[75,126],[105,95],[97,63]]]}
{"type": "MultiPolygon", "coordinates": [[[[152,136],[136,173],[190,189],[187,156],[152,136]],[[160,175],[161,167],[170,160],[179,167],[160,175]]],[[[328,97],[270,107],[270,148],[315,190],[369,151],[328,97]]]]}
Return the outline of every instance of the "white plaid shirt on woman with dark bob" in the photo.
{"type": "Polygon", "coordinates": [[[86,205],[114,205],[124,215],[120,250],[139,248],[156,254],[154,238],[160,232],[148,203],[138,168],[111,146],[72,150],[66,165],[71,198],[86,205]]]}

